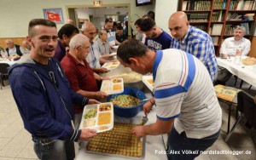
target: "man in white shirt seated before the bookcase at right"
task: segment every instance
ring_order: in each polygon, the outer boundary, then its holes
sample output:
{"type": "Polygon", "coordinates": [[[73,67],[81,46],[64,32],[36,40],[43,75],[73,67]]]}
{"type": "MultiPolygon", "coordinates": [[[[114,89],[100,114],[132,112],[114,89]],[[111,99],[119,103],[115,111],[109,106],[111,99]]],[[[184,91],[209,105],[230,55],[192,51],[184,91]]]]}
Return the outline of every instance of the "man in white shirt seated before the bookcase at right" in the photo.
{"type": "MultiPolygon", "coordinates": [[[[219,54],[223,58],[228,58],[230,56],[236,55],[236,49],[241,49],[241,55],[246,56],[251,49],[251,42],[244,38],[246,33],[246,28],[243,26],[237,26],[234,32],[234,37],[228,37],[221,44],[219,54]]],[[[218,67],[218,77],[214,84],[223,84],[232,77],[232,73],[225,69],[224,67],[218,67]]]]}

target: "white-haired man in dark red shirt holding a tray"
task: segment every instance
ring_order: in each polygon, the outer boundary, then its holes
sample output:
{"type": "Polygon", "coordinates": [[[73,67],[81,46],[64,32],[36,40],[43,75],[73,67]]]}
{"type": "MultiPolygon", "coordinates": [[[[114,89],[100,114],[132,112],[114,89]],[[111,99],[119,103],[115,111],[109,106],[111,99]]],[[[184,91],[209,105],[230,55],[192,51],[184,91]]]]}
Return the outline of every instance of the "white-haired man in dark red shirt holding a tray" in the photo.
{"type": "MultiPolygon", "coordinates": [[[[96,74],[85,60],[90,54],[89,38],[78,34],[71,39],[69,48],[69,53],[61,60],[61,66],[73,91],[96,100],[106,98],[108,94],[99,91],[97,82],[101,83],[108,77],[96,74]]],[[[73,108],[75,111],[74,125],[78,129],[84,107],[73,106],[73,108]]]]}

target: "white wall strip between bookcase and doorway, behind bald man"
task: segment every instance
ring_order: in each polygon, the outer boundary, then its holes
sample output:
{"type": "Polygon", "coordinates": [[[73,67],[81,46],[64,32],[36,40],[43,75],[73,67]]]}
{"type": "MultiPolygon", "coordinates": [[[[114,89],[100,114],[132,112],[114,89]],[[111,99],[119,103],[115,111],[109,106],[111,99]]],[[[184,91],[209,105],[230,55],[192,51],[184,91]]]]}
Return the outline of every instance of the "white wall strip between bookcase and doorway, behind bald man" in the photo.
{"type": "Polygon", "coordinates": [[[173,0],[157,0],[155,2],[155,23],[169,34],[168,21],[171,14],[177,12],[177,2],[173,0]]]}

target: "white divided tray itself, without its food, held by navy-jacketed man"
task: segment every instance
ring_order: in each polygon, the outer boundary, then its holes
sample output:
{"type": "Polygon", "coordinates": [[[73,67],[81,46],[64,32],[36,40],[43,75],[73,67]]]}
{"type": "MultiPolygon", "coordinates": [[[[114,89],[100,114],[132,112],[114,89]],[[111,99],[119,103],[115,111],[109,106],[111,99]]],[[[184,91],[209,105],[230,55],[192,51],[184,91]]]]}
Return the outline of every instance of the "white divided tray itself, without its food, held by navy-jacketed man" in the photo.
{"type": "Polygon", "coordinates": [[[107,102],[107,103],[101,103],[101,104],[95,104],[95,105],[86,105],[84,106],[84,111],[81,119],[81,123],[79,126],[79,129],[96,129],[97,133],[105,132],[110,129],[113,129],[113,103],[107,102]],[[110,106],[109,111],[102,111],[102,106],[110,106]],[[96,117],[86,118],[85,115],[88,111],[96,109],[96,117]],[[106,124],[99,124],[99,117],[101,115],[109,115],[110,114],[110,122],[106,124]],[[89,122],[89,123],[88,123],[89,122]],[[93,122],[93,123],[90,123],[93,122]],[[84,124],[91,124],[90,126],[85,126],[84,124]]]}

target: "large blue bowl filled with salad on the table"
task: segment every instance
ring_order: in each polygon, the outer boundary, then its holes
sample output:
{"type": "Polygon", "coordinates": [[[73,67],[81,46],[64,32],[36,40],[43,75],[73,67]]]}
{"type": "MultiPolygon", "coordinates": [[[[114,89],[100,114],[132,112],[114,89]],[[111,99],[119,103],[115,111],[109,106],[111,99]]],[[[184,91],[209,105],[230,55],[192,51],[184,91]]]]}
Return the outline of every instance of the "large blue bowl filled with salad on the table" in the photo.
{"type": "Polygon", "coordinates": [[[125,88],[122,94],[108,96],[113,103],[113,112],[119,117],[135,117],[141,111],[146,95],[139,89],[125,88]]]}

